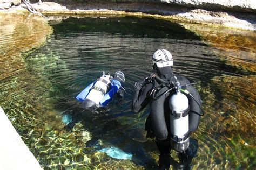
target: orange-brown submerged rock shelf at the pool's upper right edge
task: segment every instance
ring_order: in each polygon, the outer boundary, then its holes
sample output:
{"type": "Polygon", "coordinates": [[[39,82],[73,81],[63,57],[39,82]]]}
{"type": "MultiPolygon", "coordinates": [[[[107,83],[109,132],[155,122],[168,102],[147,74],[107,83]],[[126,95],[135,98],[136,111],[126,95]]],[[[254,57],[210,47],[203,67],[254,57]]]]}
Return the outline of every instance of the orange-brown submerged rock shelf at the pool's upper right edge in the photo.
{"type": "Polygon", "coordinates": [[[200,35],[210,46],[217,48],[216,54],[226,65],[247,71],[256,71],[255,32],[246,30],[234,30],[230,28],[183,24],[187,30],[200,35]]]}

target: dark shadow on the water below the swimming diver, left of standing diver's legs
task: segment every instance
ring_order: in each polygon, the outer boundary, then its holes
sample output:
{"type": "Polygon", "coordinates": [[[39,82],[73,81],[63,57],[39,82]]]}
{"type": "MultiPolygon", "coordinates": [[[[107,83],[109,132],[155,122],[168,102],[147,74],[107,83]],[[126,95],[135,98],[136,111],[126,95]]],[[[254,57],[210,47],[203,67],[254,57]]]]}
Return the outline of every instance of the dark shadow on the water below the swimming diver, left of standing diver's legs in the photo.
{"type": "MultiPolygon", "coordinates": [[[[123,100],[123,99],[122,99],[123,100]]],[[[91,139],[85,143],[84,153],[95,154],[95,152],[104,148],[121,148],[124,153],[116,155],[115,159],[119,159],[122,154],[131,153],[132,159],[136,165],[140,165],[146,169],[152,169],[157,167],[156,161],[147,152],[149,148],[145,147],[145,144],[150,144],[144,137],[144,133],[137,129],[136,126],[131,124],[123,124],[118,120],[120,116],[134,117],[129,114],[122,114],[122,111],[118,114],[113,114],[112,109],[117,107],[122,101],[110,102],[107,107],[93,108],[90,110],[81,107],[82,103],[69,107],[66,110],[72,118],[70,123],[66,124],[63,129],[68,132],[72,131],[72,128],[76,123],[81,123],[90,132],[91,139]],[[78,114],[73,114],[78,113],[78,114]]],[[[67,103],[68,104],[68,103],[67,103]]],[[[120,105],[119,105],[120,107],[120,105]]],[[[65,114],[65,112],[63,113],[65,114]]],[[[151,146],[151,149],[156,149],[151,146]]],[[[111,153],[110,153],[111,154],[111,153]]]]}

